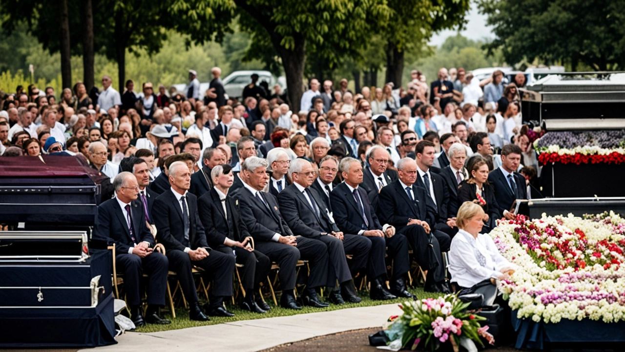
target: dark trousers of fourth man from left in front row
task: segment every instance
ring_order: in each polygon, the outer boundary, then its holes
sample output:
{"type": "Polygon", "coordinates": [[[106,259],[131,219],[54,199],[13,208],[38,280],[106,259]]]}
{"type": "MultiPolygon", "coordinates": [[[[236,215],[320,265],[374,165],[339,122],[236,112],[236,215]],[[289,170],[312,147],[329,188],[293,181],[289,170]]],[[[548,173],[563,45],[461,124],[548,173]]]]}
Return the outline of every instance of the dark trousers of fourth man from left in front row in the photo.
{"type": "Polygon", "coordinates": [[[282,289],[295,288],[296,266],[299,259],[308,261],[310,274],[308,287],[322,287],[327,281],[327,246],[324,242],[316,239],[307,239],[297,236],[297,246],[290,246],[278,242],[256,242],[256,249],[265,254],[269,259],[276,262],[280,267],[278,277],[282,289]]]}

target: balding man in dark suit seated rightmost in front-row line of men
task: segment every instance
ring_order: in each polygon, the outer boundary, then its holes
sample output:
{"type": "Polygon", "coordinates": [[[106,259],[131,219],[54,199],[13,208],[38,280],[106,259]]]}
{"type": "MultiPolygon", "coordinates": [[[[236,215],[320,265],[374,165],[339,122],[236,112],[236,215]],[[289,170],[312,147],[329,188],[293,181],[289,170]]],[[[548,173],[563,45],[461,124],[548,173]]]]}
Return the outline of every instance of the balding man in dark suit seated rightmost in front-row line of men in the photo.
{"type": "Polygon", "coordinates": [[[397,228],[404,234],[412,247],[419,266],[427,270],[427,292],[451,293],[445,281],[445,267],[441,256],[441,247],[432,236],[427,219],[432,215],[427,212],[426,191],[417,187],[417,163],[412,158],[403,158],[397,162],[399,180],[391,182],[380,191],[380,207],[377,212],[382,222],[397,228]]]}

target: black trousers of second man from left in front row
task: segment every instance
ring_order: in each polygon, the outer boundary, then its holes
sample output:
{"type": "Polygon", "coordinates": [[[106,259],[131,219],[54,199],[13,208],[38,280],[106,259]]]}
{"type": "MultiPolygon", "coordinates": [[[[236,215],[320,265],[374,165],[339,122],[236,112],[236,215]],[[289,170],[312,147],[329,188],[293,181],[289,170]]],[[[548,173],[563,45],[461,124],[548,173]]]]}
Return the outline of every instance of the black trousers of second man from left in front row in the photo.
{"type": "MultiPolygon", "coordinates": [[[[192,261],[189,254],[178,249],[167,251],[169,267],[178,274],[184,297],[189,304],[196,304],[197,291],[191,269],[198,266],[204,269],[207,279],[212,279],[211,298],[232,296],[232,274],[234,273],[234,256],[219,251],[209,252],[209,256],[201,261],[192,261]]],[[[213,299],[211,299],[213,301],[213,299]]],[[[211,302],[212,303],[212,302],[211,302]]]]}

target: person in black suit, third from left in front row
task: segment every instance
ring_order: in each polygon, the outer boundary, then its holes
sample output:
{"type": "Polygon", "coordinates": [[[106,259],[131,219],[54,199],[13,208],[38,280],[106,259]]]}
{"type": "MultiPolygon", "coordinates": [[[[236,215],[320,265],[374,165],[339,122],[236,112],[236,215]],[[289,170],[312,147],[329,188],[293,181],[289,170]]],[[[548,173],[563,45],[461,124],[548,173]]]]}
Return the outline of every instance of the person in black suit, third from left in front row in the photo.
{"type": "Polygon", "coordinates": [[[228,195],[234,175],[230,165],[216,165],[211,177],[214,188],[197,199],[199,218],[206,230],[206,239],[213,249],[236,257],[236,262],[243,264],[239,270],[241,285],[245,297],[242,309],[254,313],[265,313],[271,309],[259,297],[254,299],[254,292],[260,289],[261,281],[269,274],[271,261],[259,251],[254,251],[248,242],[249,232],[241,221],[238,202],[228,195]],[[262,306],[262,308],[261,308],[262,306]],[[264,309],[266,308],[266,309],[264,309]]]}

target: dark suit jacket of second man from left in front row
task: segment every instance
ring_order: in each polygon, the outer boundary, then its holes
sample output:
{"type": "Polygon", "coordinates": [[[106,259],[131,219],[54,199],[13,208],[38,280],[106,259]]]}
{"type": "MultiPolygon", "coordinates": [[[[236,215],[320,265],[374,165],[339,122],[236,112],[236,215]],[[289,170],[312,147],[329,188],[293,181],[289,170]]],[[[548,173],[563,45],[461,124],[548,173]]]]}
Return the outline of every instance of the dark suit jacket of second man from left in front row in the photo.
{"type": "MultiPolygon", "coordinates": [[[[189,210],[189,247],[193,250],[208,247],[204,226],[197,214],[197,197],[189,192],[186,196],[189,210]]],[[[170,249],[184,251],[186,246],[184,245],[183,209],[171,189],[158,196],[154,202],[153,216],[158,230],[156,239],[168,251],[170,249]]]]}

